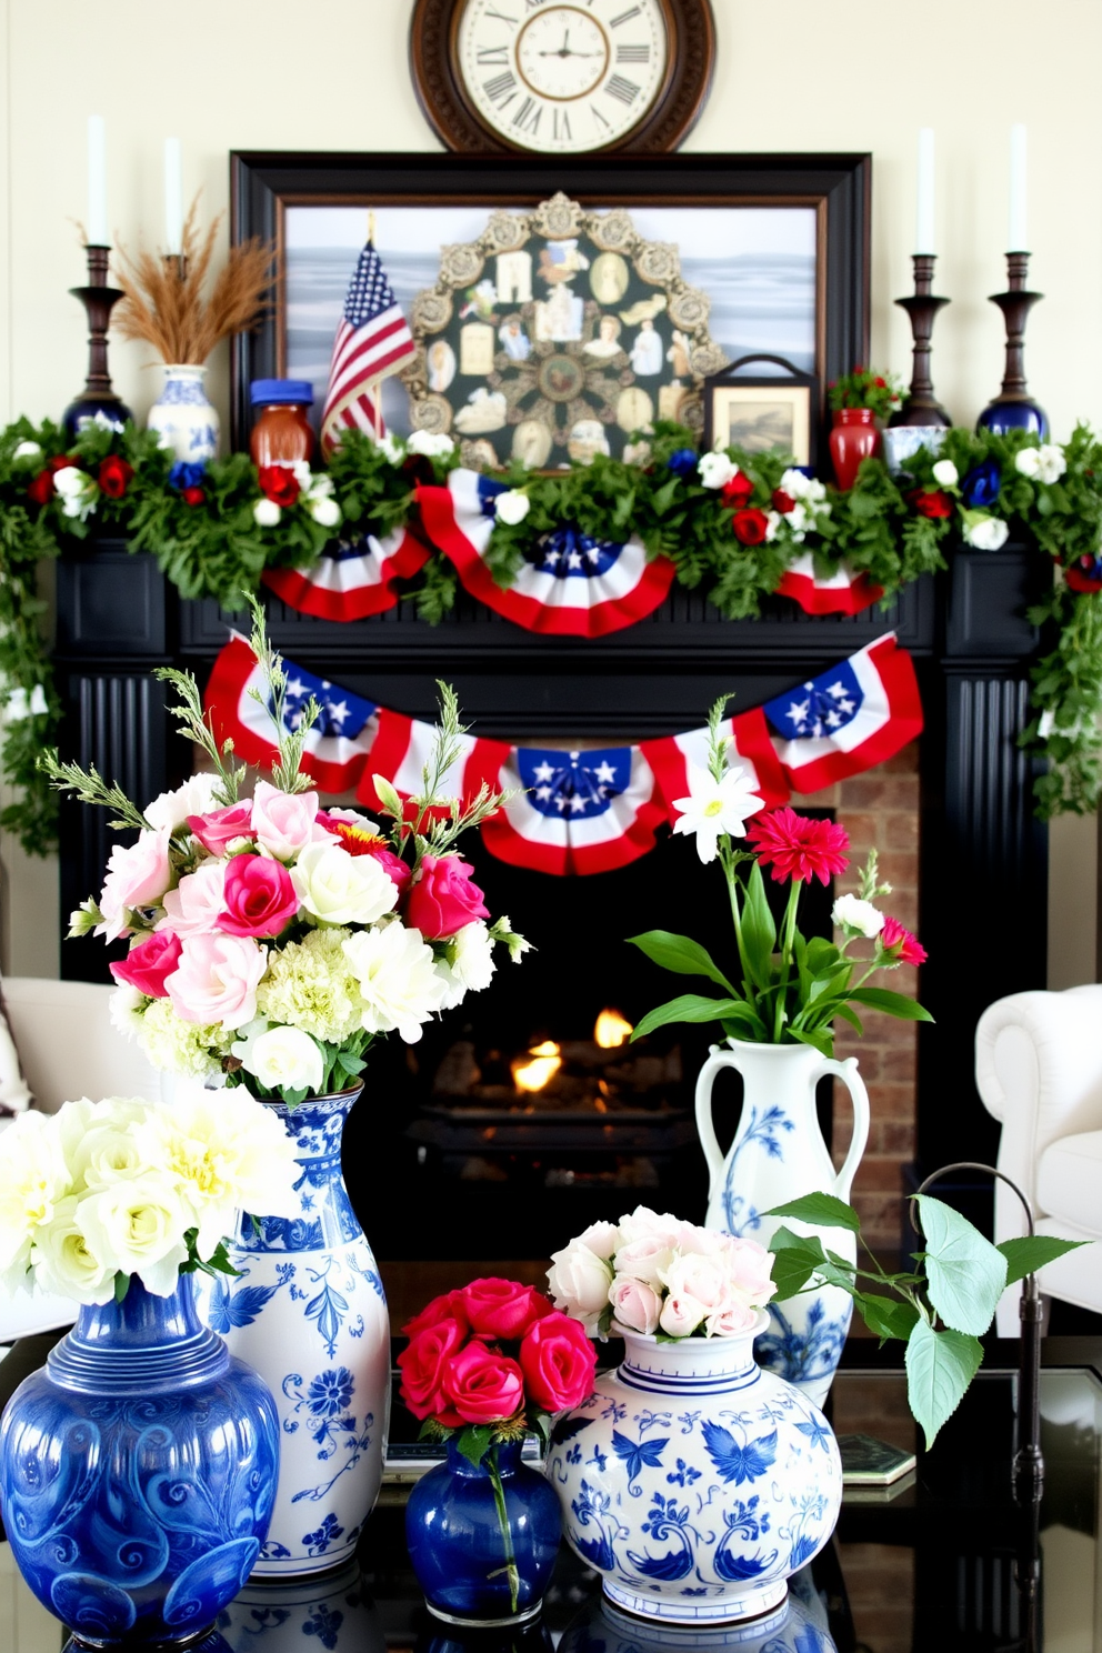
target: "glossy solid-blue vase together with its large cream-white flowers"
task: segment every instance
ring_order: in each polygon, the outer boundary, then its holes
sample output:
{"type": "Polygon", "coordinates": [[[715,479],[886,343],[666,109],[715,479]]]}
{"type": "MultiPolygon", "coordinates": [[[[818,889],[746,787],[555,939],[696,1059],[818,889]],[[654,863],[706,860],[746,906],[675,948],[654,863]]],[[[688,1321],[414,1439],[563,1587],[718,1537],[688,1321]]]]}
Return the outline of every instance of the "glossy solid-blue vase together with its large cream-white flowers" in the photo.
{"type": "Polygon", "coordinates": [[[238,1207],[294,1212],[297,1177],[243,1091],[66,1103],[3,1139],[0,1278],[81,1304],[3,1413],[5,1529],[38,1600],[96,1646],[202,1630],[259,1554],[276,1407],[200,1324],[193,1276],[231,1271],[238,1207]]]}

